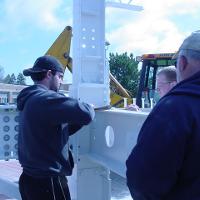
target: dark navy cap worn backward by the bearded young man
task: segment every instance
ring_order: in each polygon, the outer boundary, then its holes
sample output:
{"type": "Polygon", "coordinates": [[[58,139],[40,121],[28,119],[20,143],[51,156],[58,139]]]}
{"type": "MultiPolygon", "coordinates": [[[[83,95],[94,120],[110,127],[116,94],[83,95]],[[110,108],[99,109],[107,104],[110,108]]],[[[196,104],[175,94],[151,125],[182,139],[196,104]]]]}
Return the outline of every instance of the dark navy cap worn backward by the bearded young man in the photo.
{"type": "Polygon", "coordinates": [[[23,71],[24,76],[46,72],[48,70],[64,73],[64,68],[60,61],[54,56],[45,55],[37,58],[32,68],[23,71]]]}

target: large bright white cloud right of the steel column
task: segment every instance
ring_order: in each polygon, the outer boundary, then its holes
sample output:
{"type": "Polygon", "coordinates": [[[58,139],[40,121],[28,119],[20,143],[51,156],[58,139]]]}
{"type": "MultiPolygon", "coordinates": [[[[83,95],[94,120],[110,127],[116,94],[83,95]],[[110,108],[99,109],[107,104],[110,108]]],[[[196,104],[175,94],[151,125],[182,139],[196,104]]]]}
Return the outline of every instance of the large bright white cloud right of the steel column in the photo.
{"type": "Polygon", "coordinates": [[[113,45],[112,50],[116,52],[142,54],[176,51],[190,30],[187,30],[187,27],[184,32],[179,30],[177,22],[173,22],[171,18],[174,15],[198,15],[200,9],[199,0],[134,2],[142,5],[144,11],[138,14],[130,14],[130,11],[125,14],[125,11],[119,9],[107,11],[111,21],[108,28],[115,23],[121,23],[121,26],[109,30],[107,34],[111,47],[113,45]]]}

